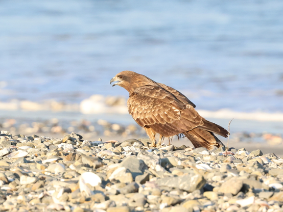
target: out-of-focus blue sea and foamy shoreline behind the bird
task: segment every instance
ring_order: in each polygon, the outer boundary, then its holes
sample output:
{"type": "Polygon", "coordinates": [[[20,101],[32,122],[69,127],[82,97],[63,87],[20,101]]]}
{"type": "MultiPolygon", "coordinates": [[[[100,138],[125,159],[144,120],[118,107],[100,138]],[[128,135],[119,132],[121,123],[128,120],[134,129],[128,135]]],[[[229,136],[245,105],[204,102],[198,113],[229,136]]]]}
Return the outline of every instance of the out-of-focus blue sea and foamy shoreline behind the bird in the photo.
{"type": "Polygon", "coordinates": [[[2,0],[0,123],[30,134],[85,125],[96,140],[105,121],[122,136],[136,125],[128,92],[109,81],[131,70],[225,128],[234,118],[235,140],[281,138],[282,35],[282,1],[2,0]]]}

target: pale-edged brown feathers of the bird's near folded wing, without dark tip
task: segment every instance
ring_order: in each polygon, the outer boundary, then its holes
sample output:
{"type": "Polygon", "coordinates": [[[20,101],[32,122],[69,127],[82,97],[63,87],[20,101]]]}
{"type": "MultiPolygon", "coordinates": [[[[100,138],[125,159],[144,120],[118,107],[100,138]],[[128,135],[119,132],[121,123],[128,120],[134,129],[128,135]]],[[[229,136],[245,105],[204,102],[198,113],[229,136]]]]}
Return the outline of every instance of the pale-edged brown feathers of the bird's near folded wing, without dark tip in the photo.
{"type": "Polygon", "coordinates": [[[128,99],[129,113],[142,127],[171,137],[202,125],[202,117],[190,104],[178,100],[172,93],[157,87],[135,89],[128,99]]]}

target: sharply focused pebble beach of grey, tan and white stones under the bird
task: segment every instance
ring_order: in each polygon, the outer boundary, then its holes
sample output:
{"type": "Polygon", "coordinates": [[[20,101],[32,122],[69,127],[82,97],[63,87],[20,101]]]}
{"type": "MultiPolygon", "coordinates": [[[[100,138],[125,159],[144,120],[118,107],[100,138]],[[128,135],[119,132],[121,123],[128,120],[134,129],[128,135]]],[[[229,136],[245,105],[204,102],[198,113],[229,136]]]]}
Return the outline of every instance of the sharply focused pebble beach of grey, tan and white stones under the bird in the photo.
{"type": "Polygon", "coordinates": [[[148,138],[0,135],[0,211],[283,211],[283,157],[148,138]]]}

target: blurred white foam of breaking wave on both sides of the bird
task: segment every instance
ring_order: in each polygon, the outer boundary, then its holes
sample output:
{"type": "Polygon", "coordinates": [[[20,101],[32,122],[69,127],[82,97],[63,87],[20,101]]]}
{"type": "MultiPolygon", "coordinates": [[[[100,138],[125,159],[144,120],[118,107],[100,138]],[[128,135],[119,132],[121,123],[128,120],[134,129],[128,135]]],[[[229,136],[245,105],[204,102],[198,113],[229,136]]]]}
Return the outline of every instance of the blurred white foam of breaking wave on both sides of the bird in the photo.
{"type": "MultiPolygon", "coordinates": [[[[66,103],[48,99],[41,102],[13,99],[0,102],[2,111],[55,111],[79,112],[81,114],[128,114],[126,98],[122,96],[92,95],[80,103],[66,103]]],[[[283,113],[266,113],[261,111],[239,112],[230,109],[218,111],[197,110],[205,118],[241,119],[258,121],[283,121],[283,113]]]]}

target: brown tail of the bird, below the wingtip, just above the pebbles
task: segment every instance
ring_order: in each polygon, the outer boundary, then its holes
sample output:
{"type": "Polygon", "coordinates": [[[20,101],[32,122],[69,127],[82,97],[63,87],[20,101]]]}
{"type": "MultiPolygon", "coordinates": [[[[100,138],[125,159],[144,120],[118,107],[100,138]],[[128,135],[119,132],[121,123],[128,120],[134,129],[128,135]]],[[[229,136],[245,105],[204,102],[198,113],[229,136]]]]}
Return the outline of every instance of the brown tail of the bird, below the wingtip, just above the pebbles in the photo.
{"type": "Polygon", "coordinates": [[[195,148],[205,147],[213,150],[213,147],[221,147],[225,145],[211,132],[200,128],[194,128],[183,133],[188,140],[192,142],[195,148]]]}

